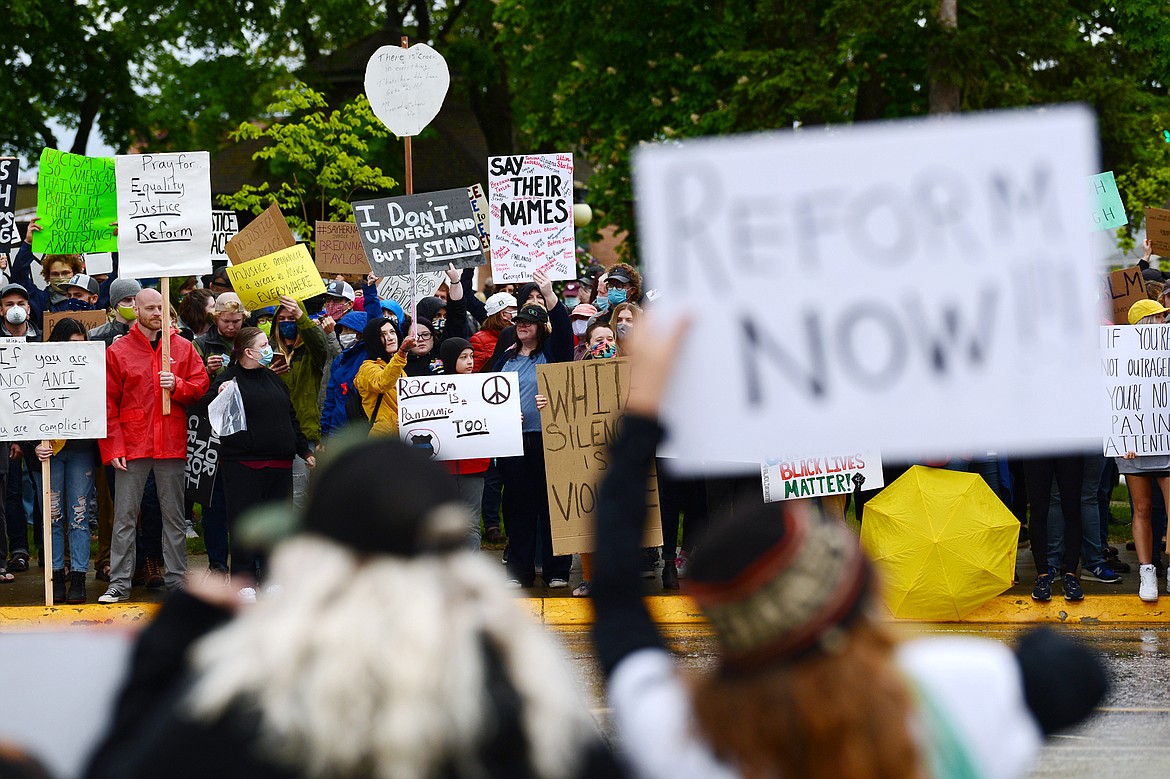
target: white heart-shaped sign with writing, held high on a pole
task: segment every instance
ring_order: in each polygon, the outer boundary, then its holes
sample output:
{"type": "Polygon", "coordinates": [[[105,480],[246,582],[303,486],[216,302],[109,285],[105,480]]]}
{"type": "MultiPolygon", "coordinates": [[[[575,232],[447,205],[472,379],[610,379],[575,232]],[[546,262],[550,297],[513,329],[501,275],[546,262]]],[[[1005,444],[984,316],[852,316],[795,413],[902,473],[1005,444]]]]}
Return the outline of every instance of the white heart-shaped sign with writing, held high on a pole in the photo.
{"type": "Polygon", "coordinates": [[[365,89],[373,115],[395,136],[417,136],[442,108],[450,73],[426,43],[384,46],[366,64],[365,89]]]}

